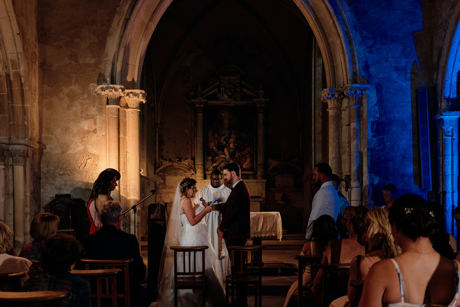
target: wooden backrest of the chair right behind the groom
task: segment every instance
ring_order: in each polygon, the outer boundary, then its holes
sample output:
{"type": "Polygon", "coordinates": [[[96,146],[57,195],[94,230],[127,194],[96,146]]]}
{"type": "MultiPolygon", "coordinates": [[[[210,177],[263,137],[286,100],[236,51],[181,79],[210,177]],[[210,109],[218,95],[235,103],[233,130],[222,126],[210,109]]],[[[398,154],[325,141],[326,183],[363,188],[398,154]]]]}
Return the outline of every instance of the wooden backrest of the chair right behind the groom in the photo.
{"type": "Polygon", "coordinates": [[[262,276],[262,249],[265,245],[227,246],[230,250],[231,275],[262,276]]]}

